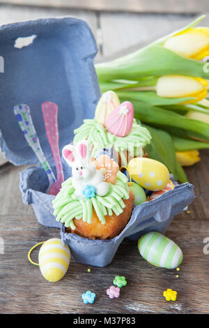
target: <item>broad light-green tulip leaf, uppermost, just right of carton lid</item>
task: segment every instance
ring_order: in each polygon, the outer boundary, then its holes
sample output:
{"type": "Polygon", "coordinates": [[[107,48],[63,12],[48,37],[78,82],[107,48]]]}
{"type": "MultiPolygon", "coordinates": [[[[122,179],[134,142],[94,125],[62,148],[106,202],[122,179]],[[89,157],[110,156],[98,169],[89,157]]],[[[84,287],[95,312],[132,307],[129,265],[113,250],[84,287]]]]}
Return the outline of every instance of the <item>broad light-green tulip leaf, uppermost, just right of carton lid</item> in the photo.
{"type": "Polygon", "coordinates": [[[95,65],[100,81],[132,80],[146,76],[187,75],[209,78],[203,67],[206,63],[187,59],[175,52],[151,45],[128,56],[104,64],[95,65]]]}

